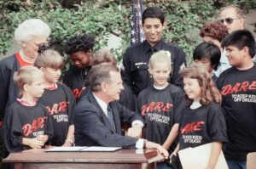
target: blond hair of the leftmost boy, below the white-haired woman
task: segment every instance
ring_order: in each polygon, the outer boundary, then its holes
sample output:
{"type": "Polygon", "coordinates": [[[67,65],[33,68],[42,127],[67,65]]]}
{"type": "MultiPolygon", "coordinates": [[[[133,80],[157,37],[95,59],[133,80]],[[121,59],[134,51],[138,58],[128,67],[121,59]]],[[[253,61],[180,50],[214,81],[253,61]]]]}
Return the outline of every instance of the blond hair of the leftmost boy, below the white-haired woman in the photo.
{"type": "Polygon", "coordinates": [[[15,72],[14,82],[19,87],[20,92],[22,92],[25,84],[32,85],[38,77],[44,78],[43,71],[35,66],[27,65],[15,72]]]}

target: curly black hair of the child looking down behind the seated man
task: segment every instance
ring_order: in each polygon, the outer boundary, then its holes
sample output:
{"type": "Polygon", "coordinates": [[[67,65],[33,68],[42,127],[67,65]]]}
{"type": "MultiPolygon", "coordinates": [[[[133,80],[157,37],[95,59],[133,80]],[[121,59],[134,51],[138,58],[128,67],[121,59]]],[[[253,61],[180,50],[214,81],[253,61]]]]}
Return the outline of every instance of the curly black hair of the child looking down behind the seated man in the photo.
{"type": "Polygon", "coordinates": [[[95,38],[87,34],[70,37],[64,44],[64,53],[73,54],[79,51],[87,53],[90,50],[92,51],[94,44],[95,38]]]}

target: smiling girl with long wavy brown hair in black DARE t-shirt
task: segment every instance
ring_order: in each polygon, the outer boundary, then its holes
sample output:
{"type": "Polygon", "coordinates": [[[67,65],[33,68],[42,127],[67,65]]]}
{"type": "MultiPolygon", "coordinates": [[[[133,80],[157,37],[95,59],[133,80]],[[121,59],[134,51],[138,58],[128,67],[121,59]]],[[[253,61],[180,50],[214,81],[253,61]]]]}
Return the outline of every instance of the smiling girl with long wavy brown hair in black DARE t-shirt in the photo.
{"type": "Polygon", "coordinates": [[[222,143],[227,141],[221,95],[204,66],[190,65],[180,75],[188,104],[181,115],[179,142],[172,155],[179,149],[212,143],[206,168],[215,168],[222,143]]]}

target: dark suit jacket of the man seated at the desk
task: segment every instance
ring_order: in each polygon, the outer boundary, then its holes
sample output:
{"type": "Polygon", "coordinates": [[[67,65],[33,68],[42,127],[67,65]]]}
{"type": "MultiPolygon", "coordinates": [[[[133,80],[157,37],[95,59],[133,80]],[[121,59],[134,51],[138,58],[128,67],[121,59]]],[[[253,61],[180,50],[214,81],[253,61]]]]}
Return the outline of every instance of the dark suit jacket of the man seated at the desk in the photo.
{"type": "Polygon", "coordinates": [[[116,146],[135,148],[137,138],[121,135],[121,122],[143,121],[136,113],[127,110],[117,101],[109,103],[113,111],[116,131],[111,127],[107,115],[89,91],[73,110],[76,146],[116,146]]]}

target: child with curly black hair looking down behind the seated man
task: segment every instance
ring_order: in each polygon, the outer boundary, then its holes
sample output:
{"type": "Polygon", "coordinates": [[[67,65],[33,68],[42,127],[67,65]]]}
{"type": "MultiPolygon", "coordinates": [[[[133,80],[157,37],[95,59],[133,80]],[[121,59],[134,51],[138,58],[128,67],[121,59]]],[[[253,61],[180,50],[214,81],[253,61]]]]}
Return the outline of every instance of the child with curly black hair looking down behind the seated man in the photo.
{"type": "Polygon", "coordinates": [[[83,34],[69,38],[64,45],[64,52],[69,54],[74,66],[65,73],[63,83],[71,88],[77,100],[86,87],[94,43],[94,37],[83,34]]]}

